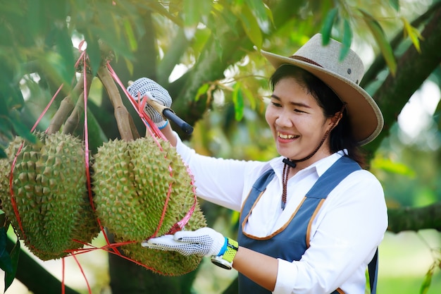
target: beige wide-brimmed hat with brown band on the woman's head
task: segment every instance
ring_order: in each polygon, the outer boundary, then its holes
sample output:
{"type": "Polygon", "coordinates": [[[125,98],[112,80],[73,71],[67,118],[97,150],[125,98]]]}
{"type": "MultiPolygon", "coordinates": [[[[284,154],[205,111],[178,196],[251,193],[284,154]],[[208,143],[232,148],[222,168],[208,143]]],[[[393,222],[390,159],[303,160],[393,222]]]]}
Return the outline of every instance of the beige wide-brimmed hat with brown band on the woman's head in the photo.
{"type": "Polygon", "coordinates": [[[294,55],[280,56],[267,51],[261,54],[278,68],[289,63],[316,75],[328,85],[342,102],[346,102],[349,122],[360,145],[371,142],[383,129],[383,115],[372,97],[359,86],[364,75],[364,65],[359,56],[349,50],[340,61],[342,44],[330,39],[323,46],[321,34],[314,35],[294,55]]]}

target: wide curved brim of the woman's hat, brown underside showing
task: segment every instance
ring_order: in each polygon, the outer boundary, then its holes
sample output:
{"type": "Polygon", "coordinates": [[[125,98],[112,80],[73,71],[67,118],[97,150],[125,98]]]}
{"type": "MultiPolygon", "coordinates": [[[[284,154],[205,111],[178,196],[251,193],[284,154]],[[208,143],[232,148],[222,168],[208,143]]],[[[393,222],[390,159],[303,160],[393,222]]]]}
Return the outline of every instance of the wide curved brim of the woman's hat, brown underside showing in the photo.
{"type": "Polygon", "coordinates": [[[312,63],[291,59],[263,50],[261,50],[261,54],[268,59],[274,68],[278,68],[286,63],[292,64],[303,68],[325,82],[340,97],[342,102],[347,103],[346,109],[349,122],[352,126],[354,138],[359,142],[359,145],[366,145],[380,134],[384,124],[383,114],[381,114],[378,105],[372,97],[362,87],[351,80],[347,80],[312,63]]]}

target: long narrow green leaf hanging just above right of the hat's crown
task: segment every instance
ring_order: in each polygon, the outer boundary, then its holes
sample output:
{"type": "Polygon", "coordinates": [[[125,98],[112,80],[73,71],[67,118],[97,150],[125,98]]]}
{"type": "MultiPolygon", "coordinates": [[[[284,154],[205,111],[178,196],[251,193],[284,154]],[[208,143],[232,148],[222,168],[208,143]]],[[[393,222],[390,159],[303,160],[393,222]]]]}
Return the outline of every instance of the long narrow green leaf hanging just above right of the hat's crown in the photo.
{"type": "Polygon", "coordinates": [[[359,11],[361,12],[361,14],[363,14],[366,25],[368,25],[368,28],[369,30],[371,30],[372,35],[378,44],[378,47],[380,47],[381,54],[383,54],[390,73],[392,74],[392,76],[395,76],[395,73],[397,71],[397,61],[395,60],[395,56],[393,54],[390,43],[387,42],[383,28],[381,27],[380,23],[378,23],[378,21],[375,20],[373,16],[371,16],[371,14],[364,11],[363,9],[359,9],[359,11]]]}

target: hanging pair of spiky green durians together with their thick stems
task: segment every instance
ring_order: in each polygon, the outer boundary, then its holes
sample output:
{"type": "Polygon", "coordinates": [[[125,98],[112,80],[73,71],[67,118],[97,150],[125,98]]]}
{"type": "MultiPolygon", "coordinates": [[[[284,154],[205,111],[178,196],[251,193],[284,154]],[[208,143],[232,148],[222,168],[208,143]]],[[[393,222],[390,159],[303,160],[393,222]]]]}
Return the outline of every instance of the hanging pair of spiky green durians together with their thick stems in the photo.
{"type": "Polygon", "coordinates": [[[38,143],[17,137],[6,149],[8,158],[0,159],[1,209],[18,238],[42,260],[65,257],[103,231],[114,235],[125,257],[147,269],[186,274],[201,257],[146,249],[141,242],[173,233],[182,219],[179,229],[206,226],[192,176],[169,142],[139,137],[105,65],[97,75],[115,108],[122,140],[104,143],[89,156],[84,142],[69,135],[92,82],[89,71],[81,73],[46,133],[35,133],[38,143]]]}

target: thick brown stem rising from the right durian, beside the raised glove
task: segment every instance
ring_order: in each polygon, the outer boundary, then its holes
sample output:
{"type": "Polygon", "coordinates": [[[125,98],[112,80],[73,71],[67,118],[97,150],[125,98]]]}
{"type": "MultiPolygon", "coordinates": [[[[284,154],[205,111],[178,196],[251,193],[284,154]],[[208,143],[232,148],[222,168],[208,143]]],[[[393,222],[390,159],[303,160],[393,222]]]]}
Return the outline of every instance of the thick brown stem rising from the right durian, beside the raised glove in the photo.
{"type": "Polygon", "coordinates": [[[121,139],[132,141],[139,138],[139,133],[135,128],[135,123],[133,123],[133,118],[125,108],[123,100],[120,96],[120,92],[118,91],[118,87],[116,87],[116,84],[106,66],[101,66],[99,68],[98,78],[106,88],[108,97],[113,105],[113,109],[115,109],[114,114],[121,139]]]}

